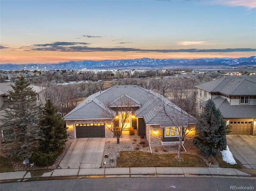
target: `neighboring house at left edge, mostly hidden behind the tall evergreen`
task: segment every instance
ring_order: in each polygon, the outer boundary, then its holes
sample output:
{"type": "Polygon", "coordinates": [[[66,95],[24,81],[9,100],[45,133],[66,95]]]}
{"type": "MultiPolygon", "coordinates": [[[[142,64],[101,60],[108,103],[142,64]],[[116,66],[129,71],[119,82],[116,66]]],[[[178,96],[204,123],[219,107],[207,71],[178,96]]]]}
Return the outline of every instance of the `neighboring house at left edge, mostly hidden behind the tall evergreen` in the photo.
{"type": "MultiPolygon", "coordinates": [[[[13,91],[12,87],[10,86],[14,85],[14,83],[0,83],[0,119],[3,118],[4,110],[8,109],[9,102],[8,100],[11,100],[9,91],[13,91]]],[[[35,104],[38,105],[44,105],[45,104],[45,98],[44,98],[44,88],[39,87],[36,85],[30,85],[32,87],[32,90],[35,91],[36,96],[36,102],[35,104]]],[[[2,125],[2,122],[0,121],[0,126],[2,125]]],[[[1,140],[4,138],[4,132],[1,129],[1,140]]]]}

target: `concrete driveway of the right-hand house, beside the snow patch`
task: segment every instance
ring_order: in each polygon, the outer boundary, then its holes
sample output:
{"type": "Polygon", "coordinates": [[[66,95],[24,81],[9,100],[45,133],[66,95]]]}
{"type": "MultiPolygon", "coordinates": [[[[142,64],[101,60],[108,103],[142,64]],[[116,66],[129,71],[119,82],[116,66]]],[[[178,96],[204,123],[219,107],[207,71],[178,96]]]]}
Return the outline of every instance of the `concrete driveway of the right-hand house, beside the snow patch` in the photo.
{"type": "Polygon", "coordinates": [[[256,169],[256,136],[227,135],[227,142],[233,156],[244,167],[256,169]]]}

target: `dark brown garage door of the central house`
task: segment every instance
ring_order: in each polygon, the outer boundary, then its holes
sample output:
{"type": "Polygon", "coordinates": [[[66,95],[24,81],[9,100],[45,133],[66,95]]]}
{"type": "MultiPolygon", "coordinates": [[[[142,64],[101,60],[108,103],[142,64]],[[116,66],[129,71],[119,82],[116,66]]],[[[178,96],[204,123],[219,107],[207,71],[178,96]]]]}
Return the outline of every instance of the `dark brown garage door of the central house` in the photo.
{"type": "Polygon", "coordinates": [[[76,138],[105,137],[104,124],[76,124],[76,138]]]}

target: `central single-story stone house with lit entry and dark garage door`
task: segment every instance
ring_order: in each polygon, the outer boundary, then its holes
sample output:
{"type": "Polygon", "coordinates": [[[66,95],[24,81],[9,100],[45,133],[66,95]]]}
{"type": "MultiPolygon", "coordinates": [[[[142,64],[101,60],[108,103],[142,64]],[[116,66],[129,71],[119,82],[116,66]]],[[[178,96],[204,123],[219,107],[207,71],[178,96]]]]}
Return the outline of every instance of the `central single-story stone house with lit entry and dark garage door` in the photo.
{"type": "MultiPolygon", "coordinates": [[[[130,100],[134,108],[128,111],[130,113],[125,121],[126,128],[132,127],[137,130],[138,135],[145,135],[150,146],[177,144],[177,124],[195,124],[195,118],[158,93],[137,85],[121,85],[89,96],[70,111],[64,117],[68,130],[74,132],[74,138],[113,138],[114,134],[109,129],[112,121],[105,114],[106,108],[114,112],[115,123],[120,125],[125,109],[120,111],[118,108],[124,98],[130,100]],[[162,105],[170,116],[175,116],[172,120],[165,115],[162,105]]],[[[126,133],[125,130],[123,133],[126,133]]]]}

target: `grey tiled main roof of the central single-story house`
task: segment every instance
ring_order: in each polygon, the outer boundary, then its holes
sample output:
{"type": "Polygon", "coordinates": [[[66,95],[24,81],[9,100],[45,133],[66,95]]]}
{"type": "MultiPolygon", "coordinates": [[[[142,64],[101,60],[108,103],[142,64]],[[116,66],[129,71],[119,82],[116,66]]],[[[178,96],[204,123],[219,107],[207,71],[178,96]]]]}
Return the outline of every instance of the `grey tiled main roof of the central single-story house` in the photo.
{"type": "MultiPolygon", "coordinates": [[[[113,86],[105,91],[100,91],[89,96],[76,108],[70,111],[64,117],[64,120],[106,119],[106,116],[103,116],[106,105],[118,106],[122,98],[131,100],[134,106],[140,106],[134,111],[134,114],[136,117],[144,118],[145,123],[148,125],[175,125],[173,124],[175,120],[170,120],[164,117],[164,113],[160,108],[162,101],[168,104],[168,112],[172,113],[173,116],[180,114],[181,117],[182,110],[158,93],[143,89],[137,85],[127,85],[113,86]]],[[[191,118],[194,122],[196,121],[192,116],[188,117],[186,112],[183,113],[182,117],[184,120],[183,125],[186,125],[185,122],[188,122],[188,118],[191,118]]]]}

